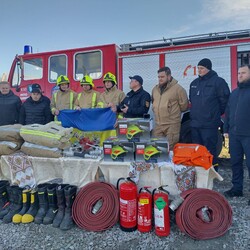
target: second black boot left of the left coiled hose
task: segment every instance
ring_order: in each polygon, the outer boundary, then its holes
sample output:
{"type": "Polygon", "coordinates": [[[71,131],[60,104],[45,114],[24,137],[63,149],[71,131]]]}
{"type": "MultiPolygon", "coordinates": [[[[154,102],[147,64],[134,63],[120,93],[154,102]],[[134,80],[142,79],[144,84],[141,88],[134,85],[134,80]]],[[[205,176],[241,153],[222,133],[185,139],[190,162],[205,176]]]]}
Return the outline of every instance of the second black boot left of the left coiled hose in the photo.
{"type": "Polygon", "coordinates": [[[69,186],[69,184],[61,184],[56,188],[58,212],[53,220],[53,227],[60,227],[60,224],[63,220],[66,207],[64,189],[67,186],[69,186]]]}

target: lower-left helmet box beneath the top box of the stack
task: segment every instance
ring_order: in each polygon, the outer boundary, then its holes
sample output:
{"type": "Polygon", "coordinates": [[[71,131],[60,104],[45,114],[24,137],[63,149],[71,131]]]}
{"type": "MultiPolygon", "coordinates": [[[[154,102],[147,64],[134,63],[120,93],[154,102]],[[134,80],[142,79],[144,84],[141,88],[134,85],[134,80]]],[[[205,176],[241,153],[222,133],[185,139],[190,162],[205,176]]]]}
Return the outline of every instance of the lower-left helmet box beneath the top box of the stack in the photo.
{"type": "Polygon", "coordinates": [[[135,161],[135,145],[127,140],[109,138],[103,142],[104,161],[132,162],[135,161]]]}

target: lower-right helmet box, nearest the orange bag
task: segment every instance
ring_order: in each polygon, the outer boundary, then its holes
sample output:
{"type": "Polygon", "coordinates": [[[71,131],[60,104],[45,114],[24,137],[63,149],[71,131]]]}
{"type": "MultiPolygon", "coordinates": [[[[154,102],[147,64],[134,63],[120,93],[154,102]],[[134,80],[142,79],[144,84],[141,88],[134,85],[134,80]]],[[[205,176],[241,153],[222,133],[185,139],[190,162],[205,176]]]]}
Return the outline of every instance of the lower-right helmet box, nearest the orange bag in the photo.
{"type": "Polygon", "coordinates": [[[150,141],[135,142],[135,160],[150,163],[168,161],[169,143],[166,138],[151,138],[150,141]]]}

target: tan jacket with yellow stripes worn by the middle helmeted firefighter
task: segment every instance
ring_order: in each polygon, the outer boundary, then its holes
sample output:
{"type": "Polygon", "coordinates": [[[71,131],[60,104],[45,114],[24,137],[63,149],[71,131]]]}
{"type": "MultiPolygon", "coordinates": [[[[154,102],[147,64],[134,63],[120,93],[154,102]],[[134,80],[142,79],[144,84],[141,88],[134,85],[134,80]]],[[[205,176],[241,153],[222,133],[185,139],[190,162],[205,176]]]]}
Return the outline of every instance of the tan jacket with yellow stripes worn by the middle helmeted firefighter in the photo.
{"type": "Polygon", "coordinates": [[[97,102],[99,100],[100,93],[91,89],[88,91],[82,91],[78,94],[75,101],[75,107],[80,108],[96,108],[97,102]]]}

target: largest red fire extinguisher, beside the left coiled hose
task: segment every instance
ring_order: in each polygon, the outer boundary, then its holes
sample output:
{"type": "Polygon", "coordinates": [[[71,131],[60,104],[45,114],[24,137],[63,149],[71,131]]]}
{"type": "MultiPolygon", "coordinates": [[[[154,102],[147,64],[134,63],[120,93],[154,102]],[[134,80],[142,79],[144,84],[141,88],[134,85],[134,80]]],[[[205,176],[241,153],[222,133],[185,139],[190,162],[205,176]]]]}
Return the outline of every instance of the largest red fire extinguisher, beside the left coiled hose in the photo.
{"type": "Polygon", "coordinates": [[[120,178],[117,181],[120,195],[120,227],[123,231],[132,232],[137,228],[137,186],[131,178],[120,178]],[[119,183],[124,180],[123,183],[119,183]]]}

